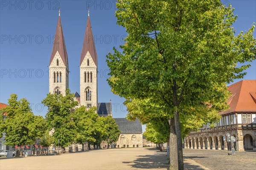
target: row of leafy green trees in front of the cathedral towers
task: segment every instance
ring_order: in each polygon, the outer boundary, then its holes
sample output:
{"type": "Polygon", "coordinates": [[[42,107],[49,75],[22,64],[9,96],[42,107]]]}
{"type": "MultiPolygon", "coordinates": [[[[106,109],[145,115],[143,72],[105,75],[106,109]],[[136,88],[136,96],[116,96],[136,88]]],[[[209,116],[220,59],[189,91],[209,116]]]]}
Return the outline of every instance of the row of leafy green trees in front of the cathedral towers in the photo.
{"type": "Polygon", "coordinates": [[[42,116],[33,115],[29,102],[12,94],[8,100],[8,107],[1,109],[6,113],[6,119],[0,116],[0,135],[5,133],[5,144],[21,146],[34,144],[40,138],[39,144],[49,147],[51,144],[68,147],[70,144],[84,142],[100,145],[102,141],[108,144],[116,142],[120,130],[115,120],[110,117],[99,117],[96,107],[87,110],[78,107],[74,94],[66,90],[66,95],[47,94],[42,104],[48,107],[48,112],[42,116]],[[76,109],[74,109],[76,108],[76,109]]]}

